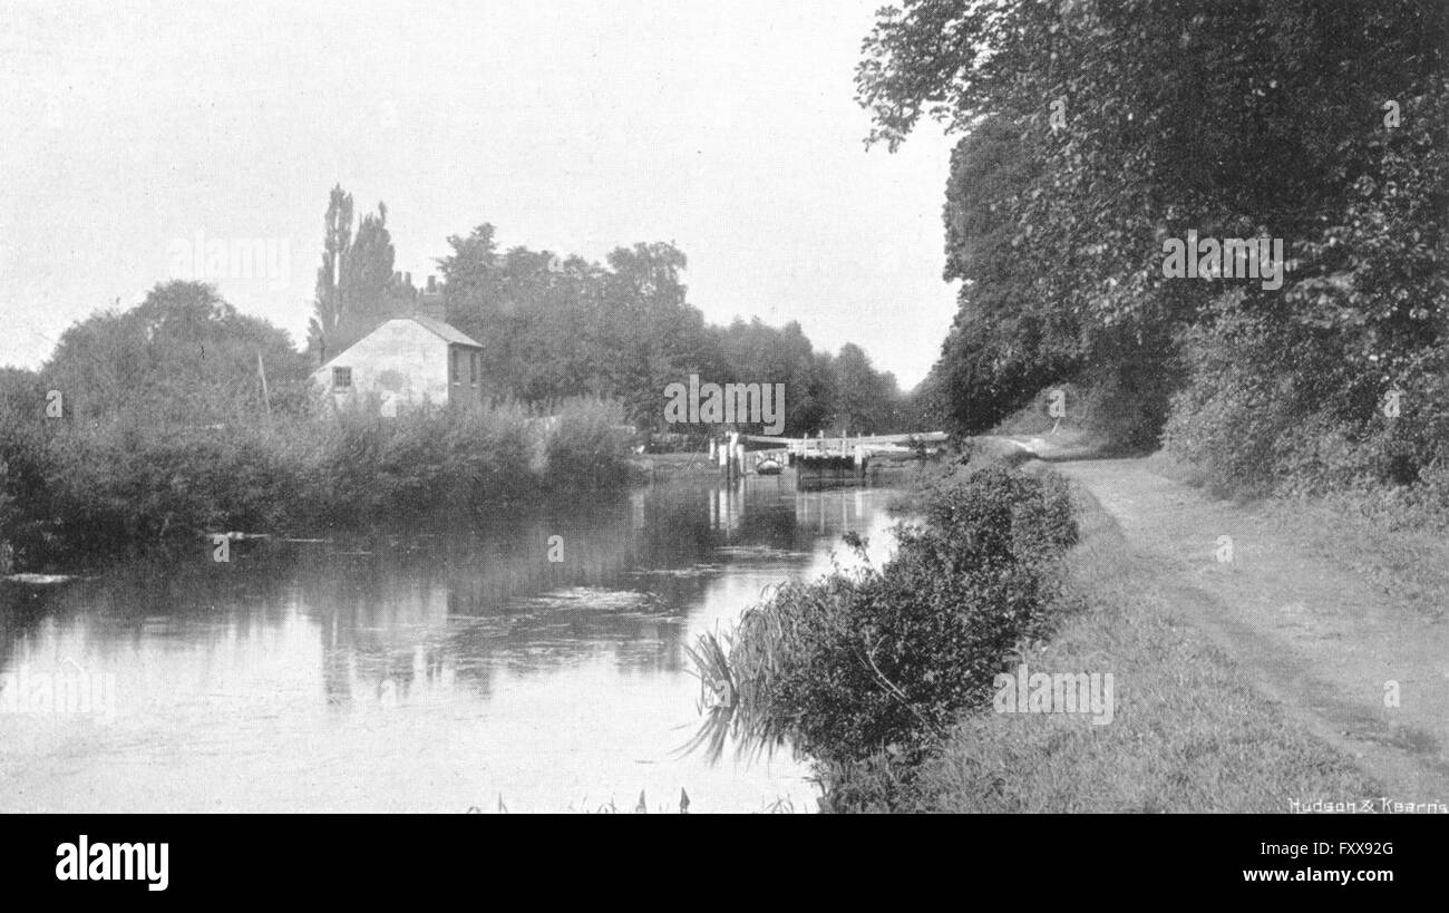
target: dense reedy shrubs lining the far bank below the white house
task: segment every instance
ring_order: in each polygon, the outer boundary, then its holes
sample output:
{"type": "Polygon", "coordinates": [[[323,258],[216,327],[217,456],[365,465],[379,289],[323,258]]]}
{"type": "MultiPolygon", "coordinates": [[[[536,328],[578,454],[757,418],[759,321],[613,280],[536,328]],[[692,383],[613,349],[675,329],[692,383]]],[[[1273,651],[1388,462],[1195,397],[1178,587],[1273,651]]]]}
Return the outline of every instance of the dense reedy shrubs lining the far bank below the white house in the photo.
{"type": "Polygon", "coordinates": [[[0,541],[19,570],[203,532],[304,533],[627,480],[622,410],[598,400],[565,401],[549,425],[514,406],[203,426],[35,412],[0,422],[0,541]]]}

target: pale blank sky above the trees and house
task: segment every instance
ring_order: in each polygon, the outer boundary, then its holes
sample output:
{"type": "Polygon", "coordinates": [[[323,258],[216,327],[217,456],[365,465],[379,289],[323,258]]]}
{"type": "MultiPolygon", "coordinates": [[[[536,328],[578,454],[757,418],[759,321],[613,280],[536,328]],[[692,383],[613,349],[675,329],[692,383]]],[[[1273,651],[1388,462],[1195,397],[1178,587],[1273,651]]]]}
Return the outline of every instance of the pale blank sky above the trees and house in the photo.
{"type": "Polygon", "coordinates": [[[798,320],[910,387],[955,312],[952,141],[865,151],[881,1],[0,0],[0,364],[139,303],[199,233],[261,242],[251,278],[196,278],[301,342],[341,181],[414,283],[483,222],[594,261],[671,241],[709,320],[798,320]]]}

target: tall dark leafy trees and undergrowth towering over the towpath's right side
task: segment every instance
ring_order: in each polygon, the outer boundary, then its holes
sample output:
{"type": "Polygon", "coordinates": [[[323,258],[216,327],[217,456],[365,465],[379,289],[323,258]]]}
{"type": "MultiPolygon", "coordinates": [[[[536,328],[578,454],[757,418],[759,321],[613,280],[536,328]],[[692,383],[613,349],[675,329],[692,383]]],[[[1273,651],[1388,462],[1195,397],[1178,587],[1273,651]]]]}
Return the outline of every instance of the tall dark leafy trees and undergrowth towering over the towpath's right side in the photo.
{"type": "Polygon", "coordinates": [[[1222,490],[1449,504],[1449,6],[900,6],[858,70],[874,138],[964,133],[942,420],[1075,381],[1074,414],[1222,490]],[[1282,287],[1166,275],[1190,232],[1281,241],[1282,287]]]}

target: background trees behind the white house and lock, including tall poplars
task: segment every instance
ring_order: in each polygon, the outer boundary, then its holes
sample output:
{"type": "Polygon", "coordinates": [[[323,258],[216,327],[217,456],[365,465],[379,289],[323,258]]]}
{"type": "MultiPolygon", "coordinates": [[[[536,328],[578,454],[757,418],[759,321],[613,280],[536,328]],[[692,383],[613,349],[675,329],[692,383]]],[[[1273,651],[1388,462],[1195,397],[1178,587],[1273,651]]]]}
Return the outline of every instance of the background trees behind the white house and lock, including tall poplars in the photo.
{"type": "MultiPolygon", "coordinates": [[[[332,190],[309,332],[314,361],[414,307],[420,277],[398,283],[387,213],[380,204],[354,230],[352,196],[332,190]]],[[[667,428],[664,390],[698,374],[720,384],[784,384],[788,435],[910,430],[895,378],[861,346],[817,352],[796,322],[706,323],[685,299],[685,257],[674,245],[616,248],[597,264],[523,246],[498,251],[485,223],[448,246],[438,261],[446,319],[484,346],[484,388],[498,399],[607,397],[640,429],[691,430],[667,428]]]]}

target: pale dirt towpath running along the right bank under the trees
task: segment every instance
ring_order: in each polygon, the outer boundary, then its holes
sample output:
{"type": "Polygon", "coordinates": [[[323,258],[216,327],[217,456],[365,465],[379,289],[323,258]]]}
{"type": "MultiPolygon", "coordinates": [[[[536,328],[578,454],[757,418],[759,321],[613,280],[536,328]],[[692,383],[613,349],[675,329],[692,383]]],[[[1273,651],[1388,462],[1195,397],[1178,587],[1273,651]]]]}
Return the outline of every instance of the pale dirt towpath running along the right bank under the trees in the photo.
{"type": "Polygon", "coordinates": [[[1281,519],[1211,500],[1151,472],[1146,459],[1052,468],[1081,483],[1135,549],[1161,561],[1182,614],[1261,694],[1355,758],[1390,801],[1449,804],[1449,613],[1394,604],[1304,548],[1281,519]],[[1232,538],[1230,561],[1220,559],[1220,536],[1232,538]],[[1392,683],[1397,707],[1385,706],[1392,683]]]}

